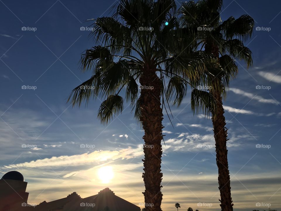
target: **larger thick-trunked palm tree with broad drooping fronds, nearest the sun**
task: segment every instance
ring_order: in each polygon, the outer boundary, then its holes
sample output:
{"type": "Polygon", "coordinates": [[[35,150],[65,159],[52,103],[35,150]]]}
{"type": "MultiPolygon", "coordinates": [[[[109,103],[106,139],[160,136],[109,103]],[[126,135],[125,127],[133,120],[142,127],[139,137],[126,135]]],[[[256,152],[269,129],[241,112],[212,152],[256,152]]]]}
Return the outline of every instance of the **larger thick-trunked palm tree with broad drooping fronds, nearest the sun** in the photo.
{"type": "MultiPolygon", "coordinates": [[[[187,84],[177,71],[163,68],[176,60],[175,12],[174,0],[120,0],[112,16],[93,19],[95,30],[91,35],[103,46],[92,47],[82,55],[82,71],[92,71],[92,76],[73,89],[68,98],[73,106],[81,106],[84,101],[87,104],[91,98],[104,98],[98,111],[104,124],[122,112],[121,94],[131,103],[145,132],[143,194],[145,205],[153,205],[145,206],[147,211],[161,211],[164,99],[171,94],[173,84],[181,84],[181,90],[187,84]],[[166,77],[172,84],[169,92],[165,89],[166,77]]],[[[181,59],[186,75],[200,80],[206,71],[205,55],[196,52],[181,55],[181,59]]]]}

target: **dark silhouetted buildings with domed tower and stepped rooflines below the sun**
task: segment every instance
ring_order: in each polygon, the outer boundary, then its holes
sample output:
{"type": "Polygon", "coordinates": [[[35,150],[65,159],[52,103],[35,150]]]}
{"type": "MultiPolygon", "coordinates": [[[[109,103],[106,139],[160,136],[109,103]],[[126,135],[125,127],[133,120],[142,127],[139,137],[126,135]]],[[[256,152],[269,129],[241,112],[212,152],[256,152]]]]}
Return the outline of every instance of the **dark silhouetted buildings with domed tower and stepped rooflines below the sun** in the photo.
{"type": "Polygon", "coordinates": [[[0,211],[140,211],[140,207],[118,197],[109,188],[81,198],[76,192],[65,198],[39,205],[28,204],[27,182],[18,171],[6,173],[0,180],[0,211]]]}

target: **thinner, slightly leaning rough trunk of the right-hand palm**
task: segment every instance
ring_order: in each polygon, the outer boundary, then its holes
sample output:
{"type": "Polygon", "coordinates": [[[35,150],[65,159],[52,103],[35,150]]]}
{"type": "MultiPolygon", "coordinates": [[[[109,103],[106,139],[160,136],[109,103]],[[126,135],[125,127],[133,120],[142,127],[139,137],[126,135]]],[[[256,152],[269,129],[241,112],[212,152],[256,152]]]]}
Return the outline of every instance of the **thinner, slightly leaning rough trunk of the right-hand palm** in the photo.
{"type": "MultiPolygon", "coordinates": [[[[207,53],[212,53],[216,56],[217,62],[219,62],[219,49],[218,46],[212,42],[208,42],[205,45],[205,51],[207,53]]],[[[227,161],[227,128],[225,127],[225,116],[224,109],[222,107],[222,95],[219,90],[216,90],[215,87],[217,84],[221,84],[220,80],[214,78],[212,80],[212,89],[210,93],[216,100],[217,110],[215,114],[212,115],[214,137],[215,137],[215,146],[216,146],[216,161],[218,168],[218,182],[220,190],[220,206],[222,211],[233,211],[233,203],[230,192],[230,176],[228,170],[228,161],[227,161]]]]}

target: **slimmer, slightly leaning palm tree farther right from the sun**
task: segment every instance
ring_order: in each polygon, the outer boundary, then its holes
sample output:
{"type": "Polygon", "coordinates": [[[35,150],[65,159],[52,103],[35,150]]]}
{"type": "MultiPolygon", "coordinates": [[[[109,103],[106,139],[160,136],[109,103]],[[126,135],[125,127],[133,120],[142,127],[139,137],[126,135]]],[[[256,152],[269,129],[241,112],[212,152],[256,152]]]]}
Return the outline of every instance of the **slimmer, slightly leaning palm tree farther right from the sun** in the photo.
{"type": "MultiPolygon", "coordinates": [[[[221,72],[207,76],[207,90],[193,89],[191,106],[193,111],[203,110],[205,115],[212,115],[214,128],[220,206],[222,211],[232,211],[233,203],[230,192],[230,177],[227,161],[227,128],[225,127],[222,98],[226,98],[229,80],[238,72],[236,59],[244,60],[247,68],[252,65],[252,53],[243,42],[253,33],[254,20],[249,15],[242,15],[222,21],[220,12],[222,0],[199,0],[185,2],[180,8],[182,25],[197,28],[198,43],[201,49],[216,58],[222,67],[221,72]],[[215,101],[215,106],[212,103],[215,101]]],[[[212,70],[210,70],[212,72],[212,70]]]]}

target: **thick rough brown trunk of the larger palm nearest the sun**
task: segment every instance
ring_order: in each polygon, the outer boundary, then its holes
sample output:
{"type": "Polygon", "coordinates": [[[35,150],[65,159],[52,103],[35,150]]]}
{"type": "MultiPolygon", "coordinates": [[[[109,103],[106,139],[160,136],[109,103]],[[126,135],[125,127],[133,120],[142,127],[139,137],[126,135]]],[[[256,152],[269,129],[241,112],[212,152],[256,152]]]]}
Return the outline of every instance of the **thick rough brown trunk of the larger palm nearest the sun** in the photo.
{"type": "Polygon", "coordinates": [[[162,157],[162,120],[163,113],[161,109],[161,80],[156,75],[155,70],[145,69],[140,77],[140,84],[143,89],[140,91],[140,107],[144,139],[144,173],[143,181],[145,191],[146,211],[162,211],[161,202],[161,157],[162,157]],[[151,88],[151,89],[150,89],[151,88]]]}

